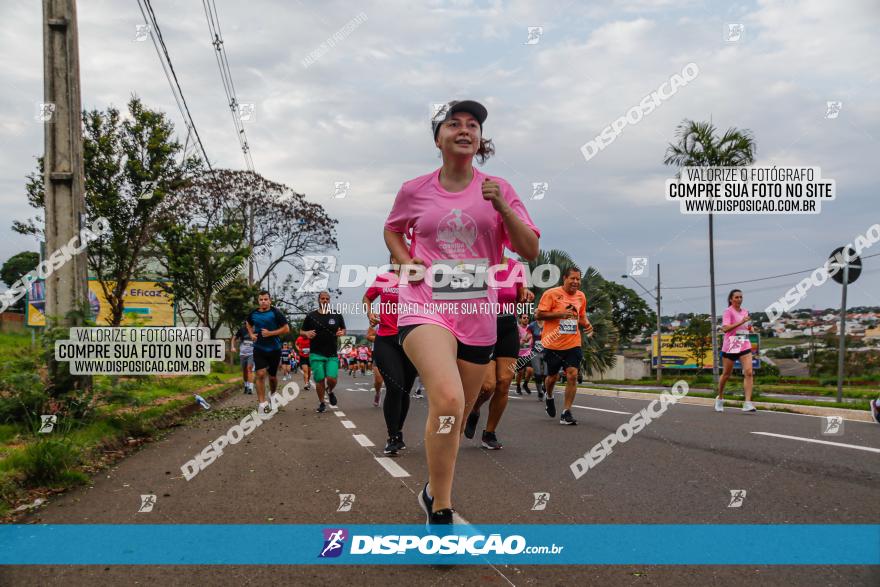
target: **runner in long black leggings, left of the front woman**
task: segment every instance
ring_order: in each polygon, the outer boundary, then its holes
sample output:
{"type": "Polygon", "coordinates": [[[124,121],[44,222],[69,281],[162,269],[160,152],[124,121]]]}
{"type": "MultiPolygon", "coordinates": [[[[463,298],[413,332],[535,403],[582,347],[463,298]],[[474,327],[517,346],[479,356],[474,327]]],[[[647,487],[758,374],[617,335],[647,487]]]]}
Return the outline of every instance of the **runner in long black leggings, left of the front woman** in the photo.
{"type": "MultiPolygon", "coordinates": [[[[394,263],[394,259],[391,259],[394,263]]],[[[403,423],[409,411],[409,390],[416,380],[413,367],[397,336],[397,273],[394,269],[376,277],[376,281],[364,294],[363,303],[370,324],[379,325],[373,342],[373,361],[376,369],[385,380],[385,426],[388,428],[388,442],[385,454],[396,455],[406,448],[403,442],[403,423]],[[373,300],[379,298],[378,315],[372,311],[373,300]]]]}

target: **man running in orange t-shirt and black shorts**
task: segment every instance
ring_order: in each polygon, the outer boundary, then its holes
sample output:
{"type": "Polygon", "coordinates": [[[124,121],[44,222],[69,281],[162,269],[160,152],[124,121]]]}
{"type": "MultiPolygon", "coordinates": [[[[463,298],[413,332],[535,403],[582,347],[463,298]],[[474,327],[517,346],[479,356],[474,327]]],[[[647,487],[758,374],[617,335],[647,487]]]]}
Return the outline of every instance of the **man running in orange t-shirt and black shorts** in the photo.
{"type": "Polygon", "coordinates": [[[553,386],[559,379],[560,367],[564,367],[565,409],[559,417],[559,423],[569,426],[577,424],[577,420],[571,415],[571,406],[577,393],[578,369],[584,358],[578,328],[583,328],[587,336],[593,335],[593,326],[587,320],[587,296],[580,287],[581,270],[569,267],[562,274],[562,285],[545,291],[535,312],[535,318],[544,321],[541,343],[544,345],[544,359],[547,361],[547,377],[544,380],[547,415],[556,417],[553,386]]]}

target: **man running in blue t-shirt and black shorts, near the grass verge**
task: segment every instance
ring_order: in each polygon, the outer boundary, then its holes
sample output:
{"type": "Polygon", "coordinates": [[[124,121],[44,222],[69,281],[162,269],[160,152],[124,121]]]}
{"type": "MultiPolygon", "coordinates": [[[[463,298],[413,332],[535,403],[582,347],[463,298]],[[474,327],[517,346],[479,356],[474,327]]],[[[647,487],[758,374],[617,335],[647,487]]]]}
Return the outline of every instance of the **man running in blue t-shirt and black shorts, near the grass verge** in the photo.
{"type": "Polygon", "coordinates": [[[248,314],[245,325],[254,341],[254,369],[256,369],[257,401],[259,410],[269,414],[275,409],[272,393],[278,387],[278,364],[281,363],[281,335],[290,332],[287,318],[272,305],[269,292],[263,290],[257,297],[259,308],[248,314]],[[268,372],[270,395],[266,398],[265,378],[268,372]]]}

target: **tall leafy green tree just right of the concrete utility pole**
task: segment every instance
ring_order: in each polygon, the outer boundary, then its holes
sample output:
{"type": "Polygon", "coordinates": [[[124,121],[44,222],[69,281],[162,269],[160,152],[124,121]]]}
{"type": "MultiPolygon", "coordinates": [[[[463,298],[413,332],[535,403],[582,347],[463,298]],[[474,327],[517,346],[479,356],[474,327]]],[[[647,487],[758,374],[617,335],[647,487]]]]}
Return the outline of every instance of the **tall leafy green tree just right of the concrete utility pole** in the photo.
{"type": "MultiPolygon", "coordinates": [[[[137,97],[128,102],[124,120],[114,107],[83,112],[83,159],[87,221],[104,217],[110,226],[109,234],[89,245],[89,271],[110,304],[111,324],[118,326],[125,291],[145,272],[144,251],[159,226],[168,217],[187,214],[170,205],[168,194],[186,185],[201,162],[186,156],[165,114],[137,97]]],[[[31,206],[44,208],[42,158],[25,187],[31,206]]],[[[13,222],[13,230],[41,234],[41,222],[40,217],[13,222]]]]}

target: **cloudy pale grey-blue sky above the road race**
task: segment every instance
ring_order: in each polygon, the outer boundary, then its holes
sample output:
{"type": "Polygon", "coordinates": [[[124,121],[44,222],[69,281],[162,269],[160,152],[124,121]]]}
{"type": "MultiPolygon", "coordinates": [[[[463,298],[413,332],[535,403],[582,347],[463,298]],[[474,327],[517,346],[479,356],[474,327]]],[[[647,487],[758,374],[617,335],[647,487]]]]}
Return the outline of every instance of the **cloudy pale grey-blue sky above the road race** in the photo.
{"type": "MultiPolygon", "coordinates": [[[[708,283],[706,217],[663,197],[673,173],[664,151],[684,118],[750,129],[759,164],[820,167],[837,182],[837,200],[818,215],[716,216],[718,283],[815,268],[880,222],[880,5],[871,0],[216,4],[239,101],[256,104],[246,126],[256,170],[339,220],[344,263],[384,260],[382,223],[400,184],[440,164],[430,105],[462,98],[487,106],[497,156],[484,169],[515,187],[541,247],[606,278],[626,282],[627,258],[645,256],[648,287],[657,263],[665,286],[708,283]],[[353,19],[344,40],[303,64],[353,19]],[[730,24],[742,25],[738,40],[730,24]],[[537,43],[526,43],[530,27],[542,27],[537,43]],[[585,160],[584,143],[691,62],[696,79],[585,160]],[[829,101],[842,103],[836,118],[826,117],[829,101]],[[351,184],[344,199],[333,198],[337,181],[351,184]],[[532,199],[534,182],[549,184],[544,198],[532,199]]],[[[213,165],[243,168],[202,3],[153,7],[213,165]]],[[[83,107],[123,107],[137,94],[184,129],[152,43],[135,40],[137,2],[78,10],[83,107]]],[[[0,260],[36,250],[9,225],[33,213],[24,181],[43,147],[41,19],[33,0],[0,7],[0,260]]],[[[865,261],[850,305],[880,306],[878,269],[880,257],[865,261]]],[[[798,279],[744,284],[745,307],[763,310],[798,279]]],[[[723,307],[729,287],[718,289],[723,307]]],[[[829,282],[800,307],[839,302],[829,282]]],[[[669,289],[664,303],[664,314],[707,312],[708,288],[669,289]]]]}

